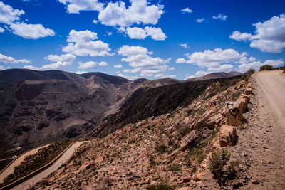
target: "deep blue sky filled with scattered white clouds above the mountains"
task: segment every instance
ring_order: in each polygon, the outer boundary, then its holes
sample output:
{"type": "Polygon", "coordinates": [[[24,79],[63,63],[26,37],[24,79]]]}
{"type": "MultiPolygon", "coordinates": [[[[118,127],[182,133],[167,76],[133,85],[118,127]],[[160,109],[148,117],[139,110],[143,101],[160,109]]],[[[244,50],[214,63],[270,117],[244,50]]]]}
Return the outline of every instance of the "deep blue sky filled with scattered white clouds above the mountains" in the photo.
{"type": "Polygon", "coordinates": [[[284,65],[284,0],[0,0],[0,70],[187,78],[284,65]]]}

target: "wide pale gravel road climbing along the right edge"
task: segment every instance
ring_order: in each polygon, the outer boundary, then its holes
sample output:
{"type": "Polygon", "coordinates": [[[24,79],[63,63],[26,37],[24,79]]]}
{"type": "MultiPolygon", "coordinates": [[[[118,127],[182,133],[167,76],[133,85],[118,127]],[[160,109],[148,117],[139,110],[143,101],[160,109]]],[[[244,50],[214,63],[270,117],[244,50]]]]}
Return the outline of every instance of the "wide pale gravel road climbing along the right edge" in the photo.
{"type": "Polygon", "coordinates": [[[252,83],[252,105],[244,114],[247,123],[234,147],[235,157],[251,177],[241,189],[285,189],[285,74],[259,72],[252,83]]]}

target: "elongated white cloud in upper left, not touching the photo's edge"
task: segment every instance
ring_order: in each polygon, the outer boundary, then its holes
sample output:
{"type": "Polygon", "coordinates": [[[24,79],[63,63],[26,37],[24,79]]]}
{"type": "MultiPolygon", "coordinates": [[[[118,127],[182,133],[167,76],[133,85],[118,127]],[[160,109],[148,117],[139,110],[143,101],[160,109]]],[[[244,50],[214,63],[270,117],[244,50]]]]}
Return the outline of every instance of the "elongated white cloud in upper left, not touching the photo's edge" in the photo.
{"type": "Polygon", "coordinates": [[[38,39],[46,36],[54,36],[55,33],[41,24],[11,23],[13,33],[26,39],[38,39]]]}

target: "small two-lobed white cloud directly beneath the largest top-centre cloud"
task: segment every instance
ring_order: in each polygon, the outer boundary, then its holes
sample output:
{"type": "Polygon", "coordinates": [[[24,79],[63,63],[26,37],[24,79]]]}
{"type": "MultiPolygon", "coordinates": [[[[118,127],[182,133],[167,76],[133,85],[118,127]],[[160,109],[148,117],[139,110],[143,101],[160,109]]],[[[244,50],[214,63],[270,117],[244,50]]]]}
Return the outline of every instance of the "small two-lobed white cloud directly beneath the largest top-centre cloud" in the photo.
{"type": "Polygon", "coordinates": [[[147,36],[151,36],[151,38],[155,41],[164,41],[166,38],[166,35],[162,32],[161,28],[149,26],[146,26],[144,29],[138,27],[128,27],[126,33],[131,39],[145,39],[147,36]]]}

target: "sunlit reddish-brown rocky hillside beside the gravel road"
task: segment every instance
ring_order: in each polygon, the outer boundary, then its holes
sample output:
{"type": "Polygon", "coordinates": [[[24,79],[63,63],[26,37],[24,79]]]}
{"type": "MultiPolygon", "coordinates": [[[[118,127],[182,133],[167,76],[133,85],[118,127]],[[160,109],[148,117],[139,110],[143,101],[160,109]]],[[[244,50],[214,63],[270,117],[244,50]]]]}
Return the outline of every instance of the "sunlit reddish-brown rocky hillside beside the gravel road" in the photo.
{"type": "MultiPolygon", "coordinates": [[[[36,184],[36,188],[175,189],[184,186],[207,189],[210,185],[219,189],[226,185],[232,189],[242,185],[238,184],[239,179],[244,179],[246,173],[235,169],[237,164],[233,164],[234,173],[224,171],[223,174],[234,174],[234,178],[227,178],[227,184],[212,179],[209,158],[215,150],[237,143],[235,128],[229,125],[240,125],[243,120],[242,113],[247,110],[249,100],[243,93],[251,93],[250,87],[246,87],[244,80],[216,81],[197,97],[187,94],[190,101],[184,101],[184,108],[177,107],[157,117],[146,116],[105,137],[95,137],[58,171],[36,184]]],[[[152,94],[160,97],[160,93],[154,93],[160,89],[153,89],[152,94]]],[[[148,110],[150,115],[154,113],[148,110]]],[[[227,151],[222,151],[228,158],[227,151]]],[[[227,163],[222,167],[229,167],[227,163]]],[[[244,167],[244,163],[240,165],[244,167]]]]}

